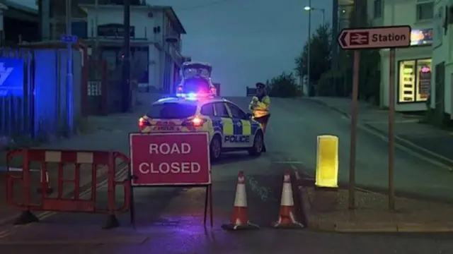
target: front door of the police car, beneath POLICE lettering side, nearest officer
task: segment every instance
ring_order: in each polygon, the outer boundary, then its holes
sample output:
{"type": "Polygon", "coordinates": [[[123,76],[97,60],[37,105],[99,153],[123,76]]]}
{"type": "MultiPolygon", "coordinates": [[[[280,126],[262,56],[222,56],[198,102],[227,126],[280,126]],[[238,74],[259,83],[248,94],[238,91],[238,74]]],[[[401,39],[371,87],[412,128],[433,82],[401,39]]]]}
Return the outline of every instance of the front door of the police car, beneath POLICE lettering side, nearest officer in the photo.
{"type": "Polygon", "coordinates": [[[234,126],[234,138],[231,142],[235,143],[235,147],[251,147],[252,133],[250,118],[242,109],[235,104],[226,103],[231,112],[234,126]]]}

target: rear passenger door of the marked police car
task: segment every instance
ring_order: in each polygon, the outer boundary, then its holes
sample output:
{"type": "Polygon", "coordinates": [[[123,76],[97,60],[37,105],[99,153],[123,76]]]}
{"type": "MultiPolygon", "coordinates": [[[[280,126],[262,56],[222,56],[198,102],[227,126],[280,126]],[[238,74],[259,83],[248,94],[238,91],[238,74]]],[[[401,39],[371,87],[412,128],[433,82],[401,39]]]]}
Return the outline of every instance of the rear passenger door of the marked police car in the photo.
{"type": "Polygon", "coordinates": [[[229,142],[230,138],[234,136],[234,126],[224,102],[214,102],[214,110],[215,117],[212,118],[212,121],[221,126],[222,147],[235,147],[234,143],[229,142]]]}

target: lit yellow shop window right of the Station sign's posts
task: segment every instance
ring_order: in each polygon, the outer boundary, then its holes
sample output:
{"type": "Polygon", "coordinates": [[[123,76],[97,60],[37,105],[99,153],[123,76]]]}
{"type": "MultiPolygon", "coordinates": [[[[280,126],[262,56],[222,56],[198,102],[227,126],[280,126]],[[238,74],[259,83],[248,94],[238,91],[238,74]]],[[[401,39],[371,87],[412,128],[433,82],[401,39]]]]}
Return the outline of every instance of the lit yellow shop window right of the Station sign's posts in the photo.
{"type": "Polygon", "coordinates": [[[431,89],[431,59],[399,62],[398,102],[425,102],[431,89]]]}

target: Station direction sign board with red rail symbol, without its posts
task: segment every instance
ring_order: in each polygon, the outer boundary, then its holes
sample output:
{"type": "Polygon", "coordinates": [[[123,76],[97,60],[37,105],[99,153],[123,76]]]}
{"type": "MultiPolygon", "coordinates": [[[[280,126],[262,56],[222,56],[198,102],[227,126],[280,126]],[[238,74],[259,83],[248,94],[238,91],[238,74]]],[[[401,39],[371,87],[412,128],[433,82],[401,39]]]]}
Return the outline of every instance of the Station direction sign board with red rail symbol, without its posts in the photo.
{"type": "Polygon", "coordinates": [[[343,29],[338,36],[342,49],[389,49],[411,46],[411,26],[343,29]]]}

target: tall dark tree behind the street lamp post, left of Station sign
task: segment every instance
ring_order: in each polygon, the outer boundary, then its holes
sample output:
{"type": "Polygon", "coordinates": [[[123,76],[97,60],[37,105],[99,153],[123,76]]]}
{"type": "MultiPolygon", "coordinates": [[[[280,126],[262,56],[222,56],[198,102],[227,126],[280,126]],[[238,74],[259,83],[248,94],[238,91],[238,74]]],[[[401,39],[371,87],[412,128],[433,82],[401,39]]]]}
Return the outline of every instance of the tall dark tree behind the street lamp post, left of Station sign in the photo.
{"type": "Polygon", "coordinates": [[[317,83],[323,73],[331,68],[331,25],[320,25],[311,40],[305,42],[302,53],[295,59],[297,76],[307,75],[310,44],[310,80],[317,83]]]}

